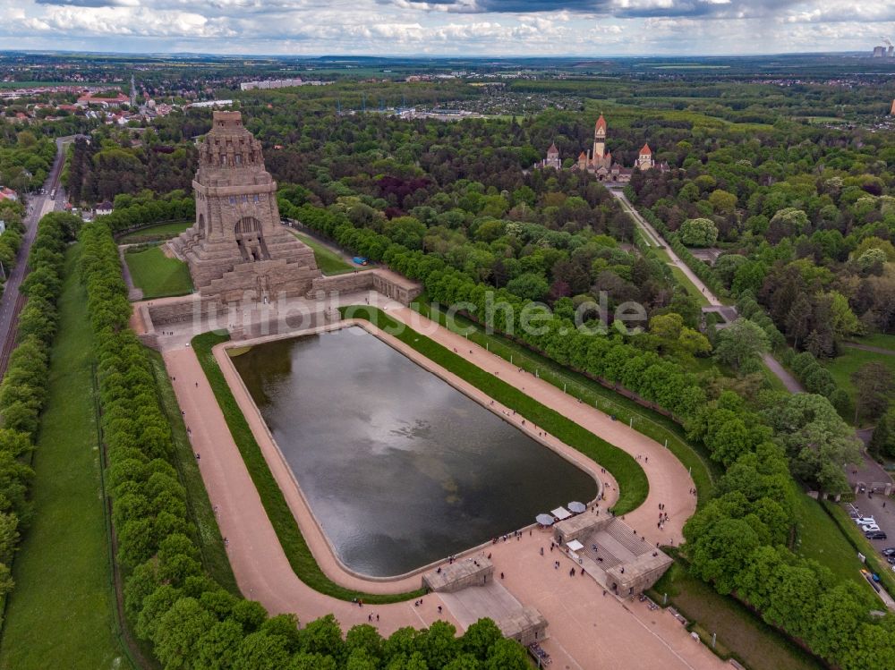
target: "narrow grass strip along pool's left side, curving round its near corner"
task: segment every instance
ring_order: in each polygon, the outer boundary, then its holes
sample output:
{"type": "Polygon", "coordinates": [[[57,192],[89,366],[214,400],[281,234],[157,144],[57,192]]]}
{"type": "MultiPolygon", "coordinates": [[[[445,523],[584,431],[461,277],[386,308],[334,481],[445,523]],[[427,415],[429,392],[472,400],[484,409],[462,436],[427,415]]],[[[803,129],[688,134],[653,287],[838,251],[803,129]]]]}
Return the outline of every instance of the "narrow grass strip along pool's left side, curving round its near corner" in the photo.
{"type": "Polygon", "coordinates": [[[422,590],[410,593],[373,594],[346,589],[330,580],[320,570],[320,565],[314,560],[311,549],[304,541],[292,510],[289,509],[282,490],[277,486],[277,480],[274,479],[273,473],[268,468],[268,462],[264,460],[264,454],[261,454],[260,446],[251,434],[251,428],[249,428],[249,424],[239,409],[233,392],[226,383],[224,374],[217,366],[217,361],[211,352],[212,347],[226,342],[228,339],[227,335],[215,335],[214,333],[197,335],[192,339],[192,349],[196,352],[200,365],[209,379],[217,403],[226,417],[227,428],[230,429],[230,434],[243,456],[246,470],[249,471],[251,480],[258,490],[261,504],[264,505],[268,519],[277,533],[277,538],[295,574],[311,589],[340,600],[363,598],[365,603],[381,605],[419,598],[422,595],[422,590]]]}

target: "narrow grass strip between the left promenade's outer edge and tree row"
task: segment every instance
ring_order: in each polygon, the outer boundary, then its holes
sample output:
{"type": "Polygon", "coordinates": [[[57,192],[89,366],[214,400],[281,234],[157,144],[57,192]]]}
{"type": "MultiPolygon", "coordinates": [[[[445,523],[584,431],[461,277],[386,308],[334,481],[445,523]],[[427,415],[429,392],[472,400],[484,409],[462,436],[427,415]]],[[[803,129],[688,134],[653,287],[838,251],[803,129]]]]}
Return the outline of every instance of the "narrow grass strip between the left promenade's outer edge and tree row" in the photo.
{"type": "Polygon", "coordinates": [[[174,386],[171,386],[171,380],[167,376],[165,361],[155,350],[147,349],[147,353],[152,374],[156,378],[158,399],[171,427],[175,447],[173,461],[183,488],[186,489],[187,512],[198,529],[198,537],[194,539],[202,556],[202,565],[224,589],[234,596],[241,596],[242,592],[236,585],[233,569],[226,556],[224,539],[217,526],[214,510],[211,508],[208,491],[205,490],[190,438],[186,434],[186,425],[183,423],[183,415],[177,404],[174,386]]]}

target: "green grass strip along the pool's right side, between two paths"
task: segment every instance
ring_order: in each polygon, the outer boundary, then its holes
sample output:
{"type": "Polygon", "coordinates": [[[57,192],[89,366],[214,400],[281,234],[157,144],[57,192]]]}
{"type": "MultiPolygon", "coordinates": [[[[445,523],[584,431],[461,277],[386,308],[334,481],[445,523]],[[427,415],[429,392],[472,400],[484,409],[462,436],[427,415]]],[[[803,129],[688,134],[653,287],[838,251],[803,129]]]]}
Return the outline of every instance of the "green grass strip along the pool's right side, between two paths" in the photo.
{"type": "Polygon", "coordinates": [[[649,493],[650,484],[643,468],[630,454],[610,445],[574,421],[566,419],[558,411],[538,403],[516,386],[507,384],[462,356],[433,342],[429,337],[410,327],[403,327],[403,324],[398,324],[386,312],[366,306],[343,307],[341,311],[345,318],[367,319],[376,327],[422,353],[442,368],[453,372],[505,407],[516,410],[526,420],[544,428],[553,437],[557,437],[561,442],[565,442],[606,468],[618,482],[619,497],[613,507],[616,514],[628,513],[643,504],[649,493]]]}

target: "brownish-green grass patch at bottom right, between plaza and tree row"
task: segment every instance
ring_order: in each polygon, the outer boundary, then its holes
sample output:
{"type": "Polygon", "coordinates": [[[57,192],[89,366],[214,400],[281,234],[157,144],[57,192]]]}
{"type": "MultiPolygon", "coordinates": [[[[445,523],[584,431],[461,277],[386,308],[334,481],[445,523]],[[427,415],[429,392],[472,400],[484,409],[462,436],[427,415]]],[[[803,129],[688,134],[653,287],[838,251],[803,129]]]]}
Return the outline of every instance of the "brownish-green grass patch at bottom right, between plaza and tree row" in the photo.
{"type": "Polygon", "coordinates": [[[705,636],[703,641],[711,645],[712,634],[716,633],[720,647],[729,650],[751,670],[823,668],[820,661],[772,629],[746,606],[691,577],[679,561],[656,582],[652,593],[658,602],[667,593],[671,605],[691,623],[699,624],[697,632],[705,636]]]}

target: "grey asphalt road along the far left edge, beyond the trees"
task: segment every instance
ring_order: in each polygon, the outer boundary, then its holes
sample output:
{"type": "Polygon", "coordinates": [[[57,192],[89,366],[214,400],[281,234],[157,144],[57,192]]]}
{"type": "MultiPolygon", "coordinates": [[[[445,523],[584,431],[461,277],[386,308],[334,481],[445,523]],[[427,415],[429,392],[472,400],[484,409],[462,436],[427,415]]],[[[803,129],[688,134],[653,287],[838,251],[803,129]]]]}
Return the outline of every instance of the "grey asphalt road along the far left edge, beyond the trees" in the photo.
{"type": "MultiPolygon", "coordinates": [[[[62,174],[65,144],[69,141],[71,141],[71,138],[56,140],[56,157],[53,169],[50,170],[50,175],[44,184],[47,194],[35,194],[29,198],[28,212],[24,221],[25,233],[21,238],[21,247],[15,259],[15,267],[13,267],[12,273],[6,279],[3,298],[0,299],[0,343],[2,343],[2,347],[0,347],[0,377],[6,373],[6,363],[9,360],[10,352],[13,351],[15,328],[22,304],[19,287],[21,286],[21,280],[27,274],[28,255],[31,250],[31,244],[38,233],[38,221],[45,214],[64,208],[65,194],[59,185],[59,176],[62,174]],[[56,190],[55,199],[50,199],[49,194],[54,189],[56,190]]],[[[4,270],[8,272],[9,268],[4,268],[4,270]]]]}

